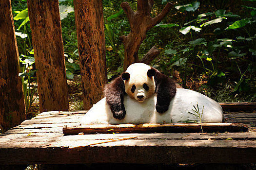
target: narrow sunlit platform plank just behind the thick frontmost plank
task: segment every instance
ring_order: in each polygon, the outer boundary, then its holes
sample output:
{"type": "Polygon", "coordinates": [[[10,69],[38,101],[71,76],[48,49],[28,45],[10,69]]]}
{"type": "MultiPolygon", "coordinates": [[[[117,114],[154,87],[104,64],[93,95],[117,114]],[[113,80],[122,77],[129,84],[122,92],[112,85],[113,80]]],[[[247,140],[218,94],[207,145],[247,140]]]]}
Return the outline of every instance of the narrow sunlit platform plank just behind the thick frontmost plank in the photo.
{"type": "MultiPolygon", "coordinates": [[[[15,142],[24,141],[70,141],[72,144],[74,141],[100,141],[100,140],[111,140],[119,138],[127,138],[131,136],[138,136],[140,140],[256,140],[256,133],[245,132],[245,133],[224,133],[224,134],[199,134],[199,133],[158,133],[158,134],[96,134],[96,135],[75,135],[75,136],[64,136],[62,133],[29,133],[29,134],[6,134],[0,135],[0,142],[7,141],[10,139],[15,142]]],[[[56,146],[58,147],[58,146],[56,146]]]]}

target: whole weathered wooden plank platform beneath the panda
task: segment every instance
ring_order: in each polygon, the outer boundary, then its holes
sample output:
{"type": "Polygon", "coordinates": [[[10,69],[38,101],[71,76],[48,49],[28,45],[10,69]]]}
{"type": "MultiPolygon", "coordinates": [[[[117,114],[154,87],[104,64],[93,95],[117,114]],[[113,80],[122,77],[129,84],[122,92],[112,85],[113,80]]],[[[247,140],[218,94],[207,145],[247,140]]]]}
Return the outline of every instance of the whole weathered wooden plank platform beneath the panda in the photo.
{"type": "Polygon", "coordinates": [[[227,122],[249,126],[244,133],[151,133],[69,135],[85,111],[44,112],[0,134],[0,165],[85,163],[256,163],[256,113],[229,112],[227,122]],[[135,139],[91,146],[102,141],[135,139]],[[70,149],[69,147],[85,146],[70,149]]]}

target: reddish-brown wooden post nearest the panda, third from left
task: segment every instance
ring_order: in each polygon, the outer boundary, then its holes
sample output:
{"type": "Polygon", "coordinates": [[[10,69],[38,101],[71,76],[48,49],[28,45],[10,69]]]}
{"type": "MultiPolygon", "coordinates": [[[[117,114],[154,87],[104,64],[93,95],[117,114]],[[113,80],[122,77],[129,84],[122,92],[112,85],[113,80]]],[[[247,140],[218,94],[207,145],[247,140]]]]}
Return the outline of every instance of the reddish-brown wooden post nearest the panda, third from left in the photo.
{"type": "Polygon", "coordinates": [[[103,96],[107,83],[102,0],[74,0],[84,109],[103,96]]]}

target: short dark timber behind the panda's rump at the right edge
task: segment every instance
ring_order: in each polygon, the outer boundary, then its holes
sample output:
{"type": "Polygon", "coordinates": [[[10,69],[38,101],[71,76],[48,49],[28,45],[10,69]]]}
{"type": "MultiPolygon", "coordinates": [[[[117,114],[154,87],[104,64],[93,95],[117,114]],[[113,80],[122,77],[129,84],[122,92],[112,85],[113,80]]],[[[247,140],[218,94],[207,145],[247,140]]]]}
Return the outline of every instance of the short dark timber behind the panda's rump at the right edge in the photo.
{"type": "Polygon", "coordinates": [[[225,111],[253,111],[256,109],[256,102],[219,102],[225,111]]]}

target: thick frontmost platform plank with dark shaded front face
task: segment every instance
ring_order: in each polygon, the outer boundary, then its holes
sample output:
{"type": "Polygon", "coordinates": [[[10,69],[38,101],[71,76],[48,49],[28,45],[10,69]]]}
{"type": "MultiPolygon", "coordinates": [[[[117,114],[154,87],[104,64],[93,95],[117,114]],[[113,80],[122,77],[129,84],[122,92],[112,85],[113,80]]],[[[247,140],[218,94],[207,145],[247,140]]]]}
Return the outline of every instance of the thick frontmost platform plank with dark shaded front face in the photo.
{"type": "Polygon", "coordinates": [[[61,147],[55,142],[24,144],[2,146],[0,164],[256,163],[256,141],[131,139],[74,149],[68,141],[61,147]]]}

